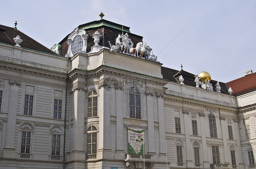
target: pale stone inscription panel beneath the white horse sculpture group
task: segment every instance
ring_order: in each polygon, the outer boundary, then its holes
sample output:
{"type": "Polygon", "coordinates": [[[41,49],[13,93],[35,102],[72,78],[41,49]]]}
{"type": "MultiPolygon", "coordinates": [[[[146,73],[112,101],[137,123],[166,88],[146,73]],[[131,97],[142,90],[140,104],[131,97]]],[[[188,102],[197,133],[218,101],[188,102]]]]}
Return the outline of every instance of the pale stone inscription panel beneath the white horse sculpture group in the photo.
{"type": "Polygon", "coordinates": [[[161,64],[132,56],[104,53],[104,65],[163,78],[161,74],[161,64]]]}

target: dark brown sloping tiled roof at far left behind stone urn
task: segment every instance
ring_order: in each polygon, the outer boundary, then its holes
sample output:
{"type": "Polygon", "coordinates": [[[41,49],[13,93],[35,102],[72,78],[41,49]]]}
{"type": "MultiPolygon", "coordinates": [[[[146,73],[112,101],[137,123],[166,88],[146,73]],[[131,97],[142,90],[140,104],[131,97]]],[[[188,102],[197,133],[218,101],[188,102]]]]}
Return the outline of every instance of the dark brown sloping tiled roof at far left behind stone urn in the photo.
{"type": "Polygon", "coordinates": [[[0,42],[1,43],[15,45],[13,38],[15,38],[18,35],[23,40],[20,44],[21,47],[36,50],[36,51],[41,51],[49,54],[56,54],[50,49],[48,49],[47,47],[40,44],[39,42],[30,38],[26,34],[22,33],[21,31],[11,28],[9,26],[0,25],[0,42]]]}

